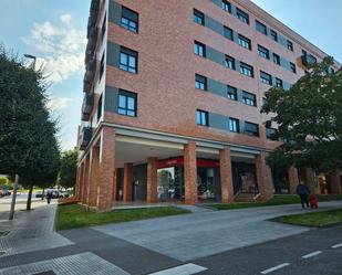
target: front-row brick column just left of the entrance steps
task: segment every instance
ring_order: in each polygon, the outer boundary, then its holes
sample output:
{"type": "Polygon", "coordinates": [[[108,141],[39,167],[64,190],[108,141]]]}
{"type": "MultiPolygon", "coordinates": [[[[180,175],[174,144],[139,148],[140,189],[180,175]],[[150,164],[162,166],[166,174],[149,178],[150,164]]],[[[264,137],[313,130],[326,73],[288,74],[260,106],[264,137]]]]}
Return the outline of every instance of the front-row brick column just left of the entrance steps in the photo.
{"type": "Polygon", "coordinates": [[[231,202],[234,200],[234,186],[231,172],[230,147],[219,151],[219,166],[221,179],[221,201],[231,202]]]}

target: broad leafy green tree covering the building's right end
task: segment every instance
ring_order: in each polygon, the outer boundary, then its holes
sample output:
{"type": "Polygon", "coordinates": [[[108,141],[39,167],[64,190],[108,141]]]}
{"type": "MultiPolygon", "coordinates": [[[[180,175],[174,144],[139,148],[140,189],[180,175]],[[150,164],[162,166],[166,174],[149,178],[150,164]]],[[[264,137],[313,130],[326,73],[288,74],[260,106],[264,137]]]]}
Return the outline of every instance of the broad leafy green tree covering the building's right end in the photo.
{"type": "Polygon", "coordinates": [[[309,65],[290,89],[272,87],[261,113],[277,125],[276,138],[284,140],[269,163],[312,167],[321,171],[342,169],[342,70],[331,70],[332,57],[309,65]]]}

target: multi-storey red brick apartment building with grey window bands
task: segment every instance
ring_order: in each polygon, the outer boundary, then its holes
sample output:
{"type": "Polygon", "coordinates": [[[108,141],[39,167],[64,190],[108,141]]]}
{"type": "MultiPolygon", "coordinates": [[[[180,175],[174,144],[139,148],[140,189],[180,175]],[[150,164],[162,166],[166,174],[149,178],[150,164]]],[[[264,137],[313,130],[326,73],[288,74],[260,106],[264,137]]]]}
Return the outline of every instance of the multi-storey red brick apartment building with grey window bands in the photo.
{"type": "MultiPolygon", "coordinates": [[[[260,107],[266,91],[290,87],[323,51],[249,0],[93,0],[87,39],[83,204],[294,192],[297,169],[276,176],[266,163],[279,141],[260,107]]],[[[310,169],[301,178],[317,184],[310,169]]],[[[329,190],[341,193],[341,181],[333,176],[329,190]]]]}

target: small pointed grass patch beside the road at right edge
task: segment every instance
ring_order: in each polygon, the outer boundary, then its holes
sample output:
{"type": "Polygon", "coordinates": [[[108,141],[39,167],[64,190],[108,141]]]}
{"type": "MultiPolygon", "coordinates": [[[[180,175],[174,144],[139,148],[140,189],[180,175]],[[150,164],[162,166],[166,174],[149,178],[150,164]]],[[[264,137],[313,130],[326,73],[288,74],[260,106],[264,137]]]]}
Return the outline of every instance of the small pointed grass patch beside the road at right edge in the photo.
{"type": "Polygon", "coordinates": [[[342,209],[305,214],[282,215],[272,219],[272,221],[312,228],[327,226],[342,222],[342,209]]]}

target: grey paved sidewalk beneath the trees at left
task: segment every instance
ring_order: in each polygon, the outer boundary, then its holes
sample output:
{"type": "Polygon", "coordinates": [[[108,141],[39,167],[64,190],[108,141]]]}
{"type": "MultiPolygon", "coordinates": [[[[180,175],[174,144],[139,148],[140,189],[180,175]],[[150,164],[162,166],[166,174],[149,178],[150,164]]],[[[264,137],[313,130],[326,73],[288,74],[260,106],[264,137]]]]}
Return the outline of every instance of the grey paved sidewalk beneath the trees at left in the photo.
{"type": "Polygon", "coordinates": [[[24,207],[17,208],[13,221],[7,220],[8,211],[0,212],[0,257],[73,244],[54,232],[54,202],[48,205],[45,201],[34,201],[33,210],[19,210],[24,207]]]}

